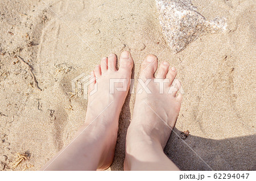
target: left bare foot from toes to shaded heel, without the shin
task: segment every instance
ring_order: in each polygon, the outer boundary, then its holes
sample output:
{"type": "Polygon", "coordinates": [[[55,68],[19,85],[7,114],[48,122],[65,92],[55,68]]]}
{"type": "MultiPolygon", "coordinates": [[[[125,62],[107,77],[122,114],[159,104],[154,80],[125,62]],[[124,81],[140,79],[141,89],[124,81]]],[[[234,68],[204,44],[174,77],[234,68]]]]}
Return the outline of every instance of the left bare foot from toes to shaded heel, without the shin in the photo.
{"type": "Polygon", "coordinates": [[[93,121],[92,134],[104,139],[101,146],[103,148],[102,156],[97,170],[108,169],[112,164],[117,141],[119,114],[130,86],[131,69],[133,68],[131,54],[129,52],[121,54],[118,70],[115,68],[116,61],[115,54],[103,58],[101,65],[96,66],[92,72],[95,81],[89,85],[89,92],[93,92],[94,87],[97,87],[97,91],[89,95],[85,124],[91,124],[93,121]],[[117,87],[119,89],[123,87],[123,90],[117,91],[117,87]]]}

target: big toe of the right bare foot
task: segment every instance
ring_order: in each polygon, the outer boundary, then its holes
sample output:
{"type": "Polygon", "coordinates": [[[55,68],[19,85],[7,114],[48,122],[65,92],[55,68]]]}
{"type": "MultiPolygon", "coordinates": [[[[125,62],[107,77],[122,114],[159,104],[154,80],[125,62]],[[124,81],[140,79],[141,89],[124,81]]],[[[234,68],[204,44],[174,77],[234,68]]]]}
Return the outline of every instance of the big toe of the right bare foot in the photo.
{"type": "Polygon", "coordinates": [[[148,55],[141,65],[141,78],[154,78],[154,73],[158,68],[158,58],[154,55],[148,55]]]}

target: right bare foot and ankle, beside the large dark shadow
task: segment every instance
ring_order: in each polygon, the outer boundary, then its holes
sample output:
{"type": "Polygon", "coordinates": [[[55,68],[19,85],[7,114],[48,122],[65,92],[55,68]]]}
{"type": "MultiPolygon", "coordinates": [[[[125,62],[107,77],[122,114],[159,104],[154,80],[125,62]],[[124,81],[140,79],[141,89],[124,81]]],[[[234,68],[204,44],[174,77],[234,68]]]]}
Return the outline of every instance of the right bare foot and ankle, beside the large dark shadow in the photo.
{"type": "Polygon", "coordinates": [[[168,62],[158,67],[155,56],[147,56],[142,63],[140,77],[143,82],[151,79],[147,87],[150,92],[138,90],[138,83],[133,119],[126,136],[125,170],[179,170],[163,153],[180,111],[181,94],[176,96],[181,84],[175,81],[176,69],[169,69],[168,62]],[[162,85],[162,87],[161,87],[162,85]]]}

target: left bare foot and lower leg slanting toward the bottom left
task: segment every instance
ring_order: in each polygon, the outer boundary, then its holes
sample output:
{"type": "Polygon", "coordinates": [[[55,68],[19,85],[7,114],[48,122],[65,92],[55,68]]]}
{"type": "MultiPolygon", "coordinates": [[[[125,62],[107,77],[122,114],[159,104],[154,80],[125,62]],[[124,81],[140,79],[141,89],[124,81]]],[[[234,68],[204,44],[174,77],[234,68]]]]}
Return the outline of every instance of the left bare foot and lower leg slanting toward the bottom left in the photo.
{"type": "MultiPolygon", "coordinates": [[[[42,170],[105,170],[112,164],[117,141],[118,119],[130,86],[133,58],[123,52],[119,70],[116,57],[111,54],[96,66],[89,92],[97,84],[97,92],[89,96],[85,124],[75,138],[59,151],[42,170]],[[127,90],[110,94],[110,79],[127,79],[127,90]]],[[[121,83],[122,84],[122,83],[121,83]]],[[[114,86],[122,87],[115,83],[114,86]]]]}

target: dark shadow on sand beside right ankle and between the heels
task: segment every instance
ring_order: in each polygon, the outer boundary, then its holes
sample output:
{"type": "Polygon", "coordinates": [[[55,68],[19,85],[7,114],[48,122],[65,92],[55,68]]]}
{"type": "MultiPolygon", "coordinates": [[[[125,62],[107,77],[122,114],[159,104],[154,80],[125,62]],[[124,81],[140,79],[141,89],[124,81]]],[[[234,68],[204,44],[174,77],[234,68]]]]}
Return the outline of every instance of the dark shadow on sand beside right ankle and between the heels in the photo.
{"type": "MultiPolygon", "coordinates": [[[[118,143],[115,160],[111,170],[122,170],[125,158],[125,135],[129,123],[119,130],[122,143],[118,143]],[[122,154],[121,154],[122,153],[122,154]],[[118,160],[117,160],[118,159],[118,160]]],[[[255,170],[256,134],[251,136],[213,140],[189,135],[185,140],[179,136],[181,131],[174,128],[164,153],[181,170],[255,170]],[[175,134],[176,132],[177,134],[175,134]],[[178,135],[178,136],[177,136],[178,135]],[[190,148],[189,148],[190,147],[190,148]]],[[[148,162],[150,164],[150,161],[148,162]]]]}

